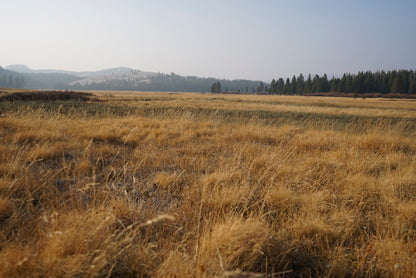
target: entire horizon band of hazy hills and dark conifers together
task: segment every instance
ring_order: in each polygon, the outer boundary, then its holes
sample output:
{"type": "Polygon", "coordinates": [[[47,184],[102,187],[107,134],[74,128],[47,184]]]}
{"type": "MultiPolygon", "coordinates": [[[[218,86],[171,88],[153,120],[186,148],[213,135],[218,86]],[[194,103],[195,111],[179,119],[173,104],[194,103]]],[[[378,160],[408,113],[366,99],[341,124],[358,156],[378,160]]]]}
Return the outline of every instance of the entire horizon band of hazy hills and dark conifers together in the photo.
{"type": "Polygon", "coordinates": [[[112,68],[96,72],[31,70],[24,65],[0,67],[0,87],[62,90],[236,92],[282,95],[317,93],[377,93],[416,95],[414,70],[361,71],[328,78],[326,74],[276,78],[271,83],[227,80],[112,68]]]}

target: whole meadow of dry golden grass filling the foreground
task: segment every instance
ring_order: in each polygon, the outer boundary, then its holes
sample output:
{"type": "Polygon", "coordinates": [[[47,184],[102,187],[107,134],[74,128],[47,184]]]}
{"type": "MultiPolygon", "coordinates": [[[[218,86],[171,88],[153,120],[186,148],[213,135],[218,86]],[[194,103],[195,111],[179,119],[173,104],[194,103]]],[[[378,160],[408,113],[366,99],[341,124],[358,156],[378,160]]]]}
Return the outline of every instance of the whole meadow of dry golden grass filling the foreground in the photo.
{"type": "Polygon", "coordinates": [[[416,276],[416,101],[94,94],[0,102],[1,277],[416,276]]]}

